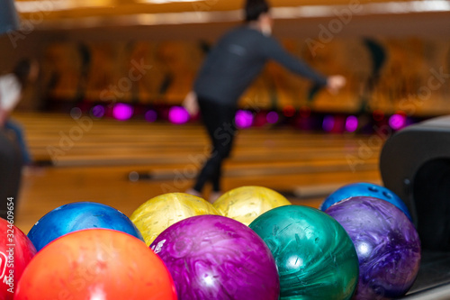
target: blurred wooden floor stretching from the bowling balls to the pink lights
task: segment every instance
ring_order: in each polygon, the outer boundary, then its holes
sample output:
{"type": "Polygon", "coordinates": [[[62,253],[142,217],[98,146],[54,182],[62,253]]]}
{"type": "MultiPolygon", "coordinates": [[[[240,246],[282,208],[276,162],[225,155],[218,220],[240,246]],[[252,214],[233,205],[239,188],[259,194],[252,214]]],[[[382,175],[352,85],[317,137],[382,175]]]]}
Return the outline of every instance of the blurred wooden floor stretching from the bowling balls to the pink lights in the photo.
{"type": "MultiPolygon", "coordinates": [[[[51,209],[76,201],[112,205],[130,215],[153,196],[190,187],[209,153],[198,123],[74,120],[68,114],[14,118],[23,124],[33,157],[54,163],[24,172],[16,216],[23,232],[51,209]]],[[[377,136],[291,127],[241,130],[224,166],[223,188],[266,186],[294,204],[318,207],[338,186],[379,183],[382,146],[377,136]]]]}

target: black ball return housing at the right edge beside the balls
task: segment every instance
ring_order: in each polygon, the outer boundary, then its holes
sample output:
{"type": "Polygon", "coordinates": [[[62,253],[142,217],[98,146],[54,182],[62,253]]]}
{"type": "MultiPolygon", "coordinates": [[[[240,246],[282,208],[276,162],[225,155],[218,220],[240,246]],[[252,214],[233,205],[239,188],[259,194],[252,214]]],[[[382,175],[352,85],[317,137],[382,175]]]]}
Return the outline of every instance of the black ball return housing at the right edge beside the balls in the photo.
{"type": "Polygon", "coordinates": [[[408,206],[422,243],[419,275],[402,299],[450,299],[450,116],[386,138],[383,185],[408,206]]]}

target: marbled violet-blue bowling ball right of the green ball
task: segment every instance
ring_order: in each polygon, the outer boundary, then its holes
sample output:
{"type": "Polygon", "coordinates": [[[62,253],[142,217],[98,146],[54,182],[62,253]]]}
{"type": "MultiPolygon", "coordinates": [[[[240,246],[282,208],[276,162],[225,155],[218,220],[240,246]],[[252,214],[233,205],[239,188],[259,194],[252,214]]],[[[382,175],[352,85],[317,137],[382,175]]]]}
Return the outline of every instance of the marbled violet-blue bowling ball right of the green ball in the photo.
{"type": "Polygon", "coordinates": [[[325,213],[350,235],[359,259],[354,299],[405,295],[419,272],[419,234],[395,205],[368,196],[350,197],[325,213]]]}

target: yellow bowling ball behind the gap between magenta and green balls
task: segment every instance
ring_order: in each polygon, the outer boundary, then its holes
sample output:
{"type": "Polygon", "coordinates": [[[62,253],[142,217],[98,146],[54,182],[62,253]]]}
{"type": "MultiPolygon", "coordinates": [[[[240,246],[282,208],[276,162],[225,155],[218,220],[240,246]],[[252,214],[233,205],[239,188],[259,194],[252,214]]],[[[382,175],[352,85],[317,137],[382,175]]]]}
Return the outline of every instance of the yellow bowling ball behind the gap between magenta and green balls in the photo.
{"type": "Polygon", "coordinates": [[[220,214],[249,225],[259,215],[278,206],[292,205],[283,195],[262,186],[242,186],[230,190],[214,202],[220,214]]]}

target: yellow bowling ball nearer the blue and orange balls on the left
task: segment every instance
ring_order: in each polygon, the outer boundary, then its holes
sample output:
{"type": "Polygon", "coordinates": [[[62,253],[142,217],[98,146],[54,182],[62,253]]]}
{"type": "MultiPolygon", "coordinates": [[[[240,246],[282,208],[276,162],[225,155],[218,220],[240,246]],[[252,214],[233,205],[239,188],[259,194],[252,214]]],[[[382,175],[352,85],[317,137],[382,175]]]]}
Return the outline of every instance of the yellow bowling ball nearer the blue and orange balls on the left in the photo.
{"type": "Polygon", "coordinates": [[[212,205],[195,195],[169,193],[148,200],[131,214],[131,221],[142,232],[149,246],[170,225],[202,214],[220,214],[212,205]]]}

